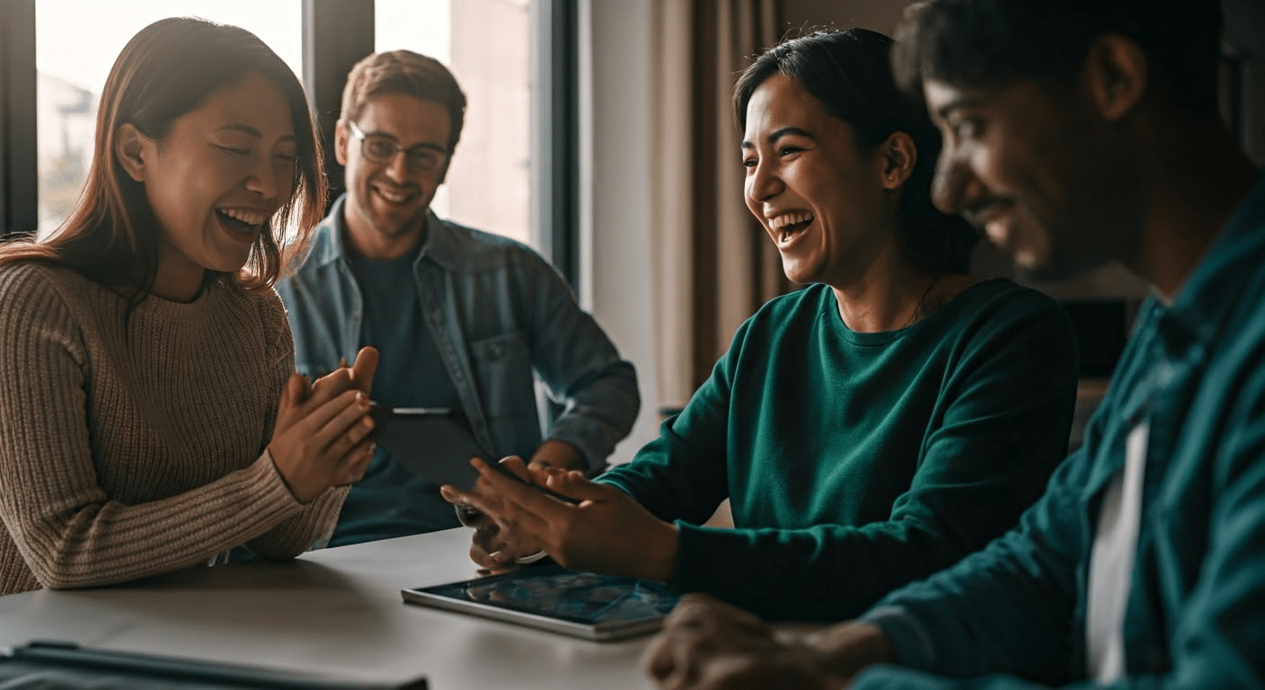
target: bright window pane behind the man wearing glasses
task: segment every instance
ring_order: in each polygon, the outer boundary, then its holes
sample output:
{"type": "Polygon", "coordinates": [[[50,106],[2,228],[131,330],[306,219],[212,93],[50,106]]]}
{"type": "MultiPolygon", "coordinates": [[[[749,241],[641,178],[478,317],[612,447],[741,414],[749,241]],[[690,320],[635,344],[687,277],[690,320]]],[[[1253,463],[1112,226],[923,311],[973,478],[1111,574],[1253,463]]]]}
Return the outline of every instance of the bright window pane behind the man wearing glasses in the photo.
{"type": "Polygon", "coordinates": [[[439,60],[466,92],[466,127],[431,208],[531,243],[531,0],[377,0],[377,51],[439,60]]]}

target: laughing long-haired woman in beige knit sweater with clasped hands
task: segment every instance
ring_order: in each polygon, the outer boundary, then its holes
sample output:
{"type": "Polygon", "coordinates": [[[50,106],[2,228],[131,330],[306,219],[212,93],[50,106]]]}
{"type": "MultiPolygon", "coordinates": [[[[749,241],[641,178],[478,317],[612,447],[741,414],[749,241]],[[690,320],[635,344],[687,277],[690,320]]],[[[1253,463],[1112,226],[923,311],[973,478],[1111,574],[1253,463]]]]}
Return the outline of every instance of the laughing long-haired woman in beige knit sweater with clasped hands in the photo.
{"type": "Polygon", "coordinates": [[[166,19],[123,49],[70,220],[0,248],[0,594],[333,528],[377,357],[309,385],[271,287],[324,187],[302,87],[253,34],[166,19]]]}

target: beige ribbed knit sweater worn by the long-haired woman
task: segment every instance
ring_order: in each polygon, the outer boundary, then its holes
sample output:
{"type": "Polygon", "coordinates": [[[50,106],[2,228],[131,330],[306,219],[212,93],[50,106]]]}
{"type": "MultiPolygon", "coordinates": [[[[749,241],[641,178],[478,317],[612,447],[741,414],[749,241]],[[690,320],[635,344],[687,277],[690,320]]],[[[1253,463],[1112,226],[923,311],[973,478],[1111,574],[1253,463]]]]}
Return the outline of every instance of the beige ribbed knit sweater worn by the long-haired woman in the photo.
{"type": "Polygon", "coordinates": [[[347,490],[301,505],[266,452],[293,342],[276,292],[126,300],[0,267],[0,594],[121,582],[238,544],[291,558],[347,490]]]}

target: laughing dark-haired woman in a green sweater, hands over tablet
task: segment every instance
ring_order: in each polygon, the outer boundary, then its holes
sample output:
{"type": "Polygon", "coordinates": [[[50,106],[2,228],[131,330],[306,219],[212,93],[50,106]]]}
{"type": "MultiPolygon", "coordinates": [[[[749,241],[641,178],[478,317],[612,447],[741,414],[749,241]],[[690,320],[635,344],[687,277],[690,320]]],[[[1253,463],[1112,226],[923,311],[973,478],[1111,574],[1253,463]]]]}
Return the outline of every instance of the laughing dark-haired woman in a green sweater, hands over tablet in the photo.
{"type": "MultiPolygon", "coordinates": [[[[739,78],[745,198],[808,287],[770,300],[681,414],[596,481],[491,471],[449,500],[488,518],[493,570],[578,570],[834,620],[1013,525],[1064,457],[1077,343],[1050,299],[965,275],[974,232],[929,200],[939,135],[898,94],[891,39],[815,33],[739,78]],[[734,529],[698,527],[730,499],[734,529]]],[[[517,458],[505,461],[525,470],[517,458]]]]}

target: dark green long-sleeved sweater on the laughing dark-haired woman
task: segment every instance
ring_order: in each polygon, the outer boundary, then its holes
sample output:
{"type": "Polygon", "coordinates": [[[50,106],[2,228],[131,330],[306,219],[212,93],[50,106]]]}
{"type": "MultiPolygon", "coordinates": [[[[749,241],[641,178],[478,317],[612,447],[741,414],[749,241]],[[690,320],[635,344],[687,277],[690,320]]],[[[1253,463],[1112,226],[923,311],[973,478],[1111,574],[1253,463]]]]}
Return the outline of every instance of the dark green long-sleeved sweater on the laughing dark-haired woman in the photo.
{"type": "Polygon", "coordinates": [[[658,439],[600,481],[676,520],[673,586],[774,619],[840,619],[1012,527],[1066,452],[1061,309],[978,284],[855,333],[834,292],[774,299],[658,439]],[[694,527],[731,499],[736,529],[694,527]]]}

